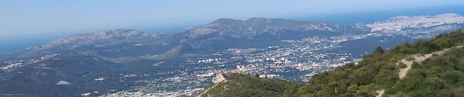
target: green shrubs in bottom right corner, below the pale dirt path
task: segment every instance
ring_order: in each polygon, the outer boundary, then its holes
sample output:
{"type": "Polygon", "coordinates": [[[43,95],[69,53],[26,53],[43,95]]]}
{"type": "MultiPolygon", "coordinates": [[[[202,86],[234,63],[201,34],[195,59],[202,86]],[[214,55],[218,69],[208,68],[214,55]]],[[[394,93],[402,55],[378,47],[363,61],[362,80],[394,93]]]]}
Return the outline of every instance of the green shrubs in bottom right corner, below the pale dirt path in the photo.
{"type": "Polygon", "coordinates": [[[387,88],[395,97],[464,97],[464,48],[413,63],[407,76],[387,88]]]}

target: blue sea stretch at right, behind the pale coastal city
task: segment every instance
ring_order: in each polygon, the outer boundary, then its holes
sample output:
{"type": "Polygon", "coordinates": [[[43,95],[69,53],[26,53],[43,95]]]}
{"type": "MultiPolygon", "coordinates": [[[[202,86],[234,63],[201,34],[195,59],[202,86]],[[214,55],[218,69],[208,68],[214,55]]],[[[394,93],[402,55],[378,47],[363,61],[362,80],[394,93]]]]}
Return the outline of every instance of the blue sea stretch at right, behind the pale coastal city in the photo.
{"type": "Polygon", "coordinates": [[[463,5],[448,5],[448,6],[433,6],[423,8],[408,8],[408,9],[389,9],[379,11],[366,11],[366,12],[351,12],[351,13],[338,13],[338,14],[322,14],[304,17],[294,17],[289,19],[314,21],[314,22],[328,22],[335,24],[354,25],[355,23],[374,23],[386,21],[389,17],[397,16],[435,16],[445,13],[456,13],[464,15],[463,5]]]}

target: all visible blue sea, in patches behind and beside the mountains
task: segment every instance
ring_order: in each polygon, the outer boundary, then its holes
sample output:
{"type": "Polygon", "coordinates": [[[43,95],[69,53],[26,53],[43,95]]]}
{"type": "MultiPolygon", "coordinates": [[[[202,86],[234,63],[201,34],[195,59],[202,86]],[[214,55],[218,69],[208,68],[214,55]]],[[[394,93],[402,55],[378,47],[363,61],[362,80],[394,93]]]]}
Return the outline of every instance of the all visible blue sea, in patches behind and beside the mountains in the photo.
{"type": "MultiPolygon", "coordinates": [[[[290,17],[285,19],[294,19],[300,21],[314,21],[314,22],[328,22],[335,24],[354,25],[355,23],[374,23],[386,21],[389,17],[397,16],[419,16],[419,15],[438,15],[445,13],[456,13],[464,15],[464,6],[451,5],[451,6],[434,6],[426,8],[408,8],[408,9],[390,9],[380,11],[366,11],[366,12],[351,12],[351,13],[338,13],[338,14],[318,14],[303,17],[290,17]]],[[[201,23],[199,23],[201,24],[201,23]]],[[[206,23],[204,23],[206,24],[206,23]]],[[[201,26],[201,25],[183,25],[183,26],[165,26],[165,27],[139,27],[138,29],[145,33],[157,32],[178,32],[187,27],[201,26]]],[[[25,49],[29,46],[36,46],[49,43],[53,40],[66,36],[67,34],[44,34],[34,36],[23,36],[14,38],[0,38],[0,53],[8,51],[17,51],[25,49]]]]}

